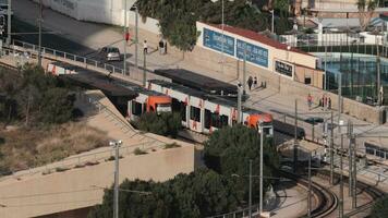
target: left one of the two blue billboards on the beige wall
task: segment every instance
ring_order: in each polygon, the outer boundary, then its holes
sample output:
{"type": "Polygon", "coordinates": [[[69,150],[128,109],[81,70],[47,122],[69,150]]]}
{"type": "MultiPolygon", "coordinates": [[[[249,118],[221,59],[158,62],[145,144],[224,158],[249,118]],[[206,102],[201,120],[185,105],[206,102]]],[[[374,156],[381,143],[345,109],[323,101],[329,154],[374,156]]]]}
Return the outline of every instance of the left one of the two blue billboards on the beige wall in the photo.
{"type": "Polygon", "coordinates": [[[223,35],[222,45],[222,34],[210,31],[208,28],[204,28],[204,46],[217,50],[219,52],[222,52],[223,50],[225,53],[234,56],[234,38],[223,35]]]}

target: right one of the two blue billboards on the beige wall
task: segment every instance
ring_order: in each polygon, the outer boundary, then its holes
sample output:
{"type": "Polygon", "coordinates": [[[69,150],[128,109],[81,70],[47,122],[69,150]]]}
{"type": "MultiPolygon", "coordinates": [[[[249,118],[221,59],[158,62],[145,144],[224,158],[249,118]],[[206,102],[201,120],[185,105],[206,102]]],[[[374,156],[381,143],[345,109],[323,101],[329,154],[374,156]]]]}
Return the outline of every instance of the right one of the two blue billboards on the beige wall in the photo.
{"type": "Polygon", "coordinates": [[[245,49],[246,61],[268,68],[268,49],[238,39],[237,57],[239,59],[244,59],[245,49]]]}

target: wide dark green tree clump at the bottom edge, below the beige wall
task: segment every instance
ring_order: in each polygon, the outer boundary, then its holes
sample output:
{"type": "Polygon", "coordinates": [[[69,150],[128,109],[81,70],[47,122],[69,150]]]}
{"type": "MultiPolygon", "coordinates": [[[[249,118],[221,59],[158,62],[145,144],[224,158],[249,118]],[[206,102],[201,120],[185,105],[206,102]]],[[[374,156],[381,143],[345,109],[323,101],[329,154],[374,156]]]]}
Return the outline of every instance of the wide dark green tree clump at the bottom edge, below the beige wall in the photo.
{"type": "MultiPolygon", "coordinates": [[[[196,218],[237,209],[237,198],[230,180],[206,168],[190,174],[157,183],[129,181],[120,184],[120,217],[196,218]],[[125,192],[143,191],[150,194],[125,192]]],[[[106,190],[102,204],[95,206],[89,218],[109,218],[112,215],[113,191],[106,190]]]]}

